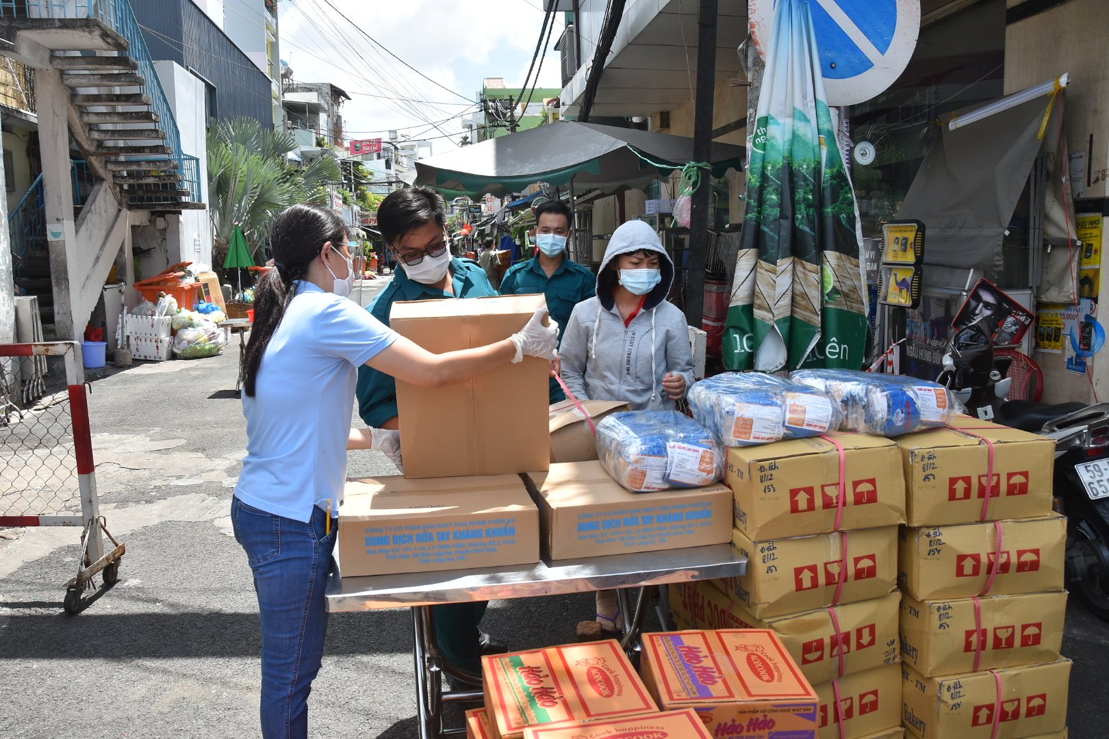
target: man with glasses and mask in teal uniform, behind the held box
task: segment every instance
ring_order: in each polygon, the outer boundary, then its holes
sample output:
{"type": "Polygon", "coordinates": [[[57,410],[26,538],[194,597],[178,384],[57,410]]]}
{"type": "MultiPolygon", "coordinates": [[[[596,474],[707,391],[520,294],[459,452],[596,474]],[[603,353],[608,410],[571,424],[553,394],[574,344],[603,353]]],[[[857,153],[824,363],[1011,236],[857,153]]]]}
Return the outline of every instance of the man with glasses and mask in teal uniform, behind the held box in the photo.
{"type": "MultiPolygon", "coordinates": [[[[497,295],[485,270],[472,259],[451,257],[447,242],[442,196],[430,187],[405,187],[390,193],[377,208],[377,227],[396,258],[393,283],[369,310],[389,325],[389,309],[398,300],[482,298],[497,295]]],[[[358,368],[358,414],[367,425],[397,429],[397,383],[369,367],[358,368]]],[[[506,651],[478,629],[486,603],[435,607],[436,637],[447,661],[481,674],[482,654],[506,651]]]]}

